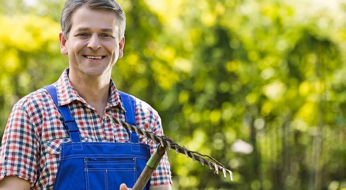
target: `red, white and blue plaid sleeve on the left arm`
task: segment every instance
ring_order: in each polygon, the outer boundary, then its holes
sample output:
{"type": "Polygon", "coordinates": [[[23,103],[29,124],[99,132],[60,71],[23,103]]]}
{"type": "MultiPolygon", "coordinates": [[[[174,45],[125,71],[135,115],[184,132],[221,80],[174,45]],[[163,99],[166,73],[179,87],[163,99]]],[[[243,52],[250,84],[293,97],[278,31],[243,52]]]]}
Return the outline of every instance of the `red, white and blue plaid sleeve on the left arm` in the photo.
{"type": "Polygon", "coordinates": [[[37,173],[37,140],[27,111],[20,105],[12,108],[0,147],[0,180],[16,175],[34,186],[37,173]]]}

